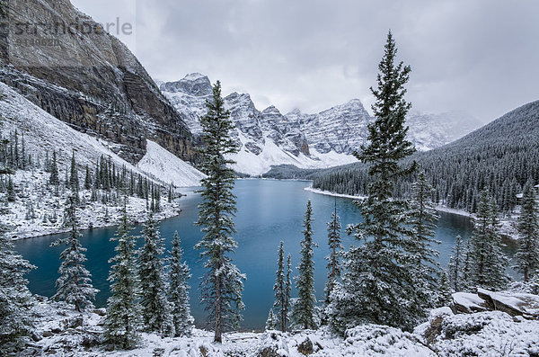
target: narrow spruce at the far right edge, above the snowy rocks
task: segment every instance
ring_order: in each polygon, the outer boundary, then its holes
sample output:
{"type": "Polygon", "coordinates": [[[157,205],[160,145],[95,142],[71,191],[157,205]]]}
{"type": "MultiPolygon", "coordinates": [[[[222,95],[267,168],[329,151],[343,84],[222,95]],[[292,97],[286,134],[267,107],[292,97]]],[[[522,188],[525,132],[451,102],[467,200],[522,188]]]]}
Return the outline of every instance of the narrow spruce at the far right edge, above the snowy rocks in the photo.
{"type": "Polygon", "coordinates": [[[539,269],[539,208],[534,184],[528,181],[524,186],[522,209],[518,217],[518,250],[516,268],[529,281],[539,269]]]}

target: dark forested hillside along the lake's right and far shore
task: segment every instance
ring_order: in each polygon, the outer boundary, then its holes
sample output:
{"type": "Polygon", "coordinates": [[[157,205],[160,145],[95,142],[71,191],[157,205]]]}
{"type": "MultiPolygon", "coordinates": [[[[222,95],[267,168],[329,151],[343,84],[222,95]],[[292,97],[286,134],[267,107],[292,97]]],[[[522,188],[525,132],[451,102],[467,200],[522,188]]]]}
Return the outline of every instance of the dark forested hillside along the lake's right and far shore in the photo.
{"type": "MultiPolygon", "coordinates": [[[[526,181],[539,183],[539,101],[508,112],[445,147],[418,152],[408,160],[417,160],[425,170],[438,203],[475,212],[479,193],[488,188],[499,210],[512,210],[526,181]]],[[[367,168],[361,163],[322,171],[278,167],[268,176],[312,179],[314,188],[352,195],[363,195],[367,189],[367,168]]],[[[410,190],[409,180],[395,185],[399,196],[410,190]]]]}

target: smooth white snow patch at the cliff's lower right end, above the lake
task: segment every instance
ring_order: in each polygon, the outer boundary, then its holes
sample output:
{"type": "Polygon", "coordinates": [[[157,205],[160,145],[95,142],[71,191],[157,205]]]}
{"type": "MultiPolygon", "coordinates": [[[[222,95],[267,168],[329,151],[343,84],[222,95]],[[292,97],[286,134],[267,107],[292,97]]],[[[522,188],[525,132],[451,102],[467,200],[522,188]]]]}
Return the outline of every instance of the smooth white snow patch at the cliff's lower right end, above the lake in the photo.
{"type": "Polygon", "coordinates": [[[150,140],[146,142],[146,155],[137,167],[164,183],[172,183],[179,187],[198,186],[205,176],[178,156],[150,140]]]}

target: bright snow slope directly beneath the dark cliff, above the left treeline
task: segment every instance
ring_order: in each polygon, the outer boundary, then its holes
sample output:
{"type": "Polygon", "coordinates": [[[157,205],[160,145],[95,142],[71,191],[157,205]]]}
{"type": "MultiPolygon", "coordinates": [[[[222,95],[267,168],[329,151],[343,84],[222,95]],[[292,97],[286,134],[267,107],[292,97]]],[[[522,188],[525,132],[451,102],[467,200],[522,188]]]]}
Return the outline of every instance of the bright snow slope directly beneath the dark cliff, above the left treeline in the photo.
{"type": "Polygon", "coordinates": [[[4,132],[16,129],[23,135],[29,154],[43,158],[46,151],[51,155],[55,150],[60,171],[66,169],[75,150],[77,164],[80,166],[93,167],[100,156],[110,156],[111,161],[118,167],[125,165],[135,173],[147,173],[155,180],[173,182],[177,186],[198,185],[200,177],[203,176],[198,170],[151,141],[148,141],[146,156],[138,167],[131,165],[110,149],[113,144],[72,129],[3,83],[0,83],[0,115],[4,118],[4,132]]]}

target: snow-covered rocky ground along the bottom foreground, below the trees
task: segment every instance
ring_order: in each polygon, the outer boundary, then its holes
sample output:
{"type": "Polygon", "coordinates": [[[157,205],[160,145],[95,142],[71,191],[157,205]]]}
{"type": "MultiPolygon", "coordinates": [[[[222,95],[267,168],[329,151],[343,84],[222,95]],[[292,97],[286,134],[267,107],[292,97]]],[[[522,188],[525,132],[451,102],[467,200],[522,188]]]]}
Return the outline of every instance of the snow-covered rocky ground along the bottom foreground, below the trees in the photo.
{"type": "MultiPolygon", "coordinates": [[[[510,298],[510,293],[506,292],[510,298]]],[[[536,299],[539,299],[535,295],[536,299]]],[[[479,301],[478,301],[479,302],[479,301]]],[[[36,332],[24,353],[70,356],[181,357],[336,357],[336,356],[530,356],[539,353],[539,321],[502,311],[454,315],[451,308],[431,311],[413,333],[389,326],[362,325],[344,336],[320,330],[213,333],[195,329],[190,337],[141,334],[132,351],[107,351],[102,343],[104,309],[84,314],[64,303],[40,298],[32,315],[36,332]],[[83,317],[83,318],[81,318],[83,317]],[[535,354],[534,354],[535,353],[535,354]]]]}

